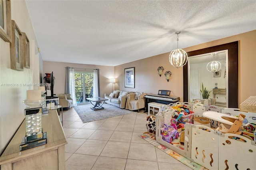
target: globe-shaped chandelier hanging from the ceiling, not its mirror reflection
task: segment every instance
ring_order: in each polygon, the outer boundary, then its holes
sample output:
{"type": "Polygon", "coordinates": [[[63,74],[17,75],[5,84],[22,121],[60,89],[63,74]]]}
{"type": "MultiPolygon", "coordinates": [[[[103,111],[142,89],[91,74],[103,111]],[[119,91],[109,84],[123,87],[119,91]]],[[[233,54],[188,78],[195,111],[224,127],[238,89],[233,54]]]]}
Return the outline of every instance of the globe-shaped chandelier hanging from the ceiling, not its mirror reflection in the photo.
{"type": "Polygon", "coordinates": [[[178,48],[180,31],[175,32],[175,34],[177,34],[177,48],[172,50],[172,52],[170,53],[169,61],[173,67],[180,68],[180,67],[183,67],[187,63],[188,55],[187,55],[186,51],[178,48]]]}

